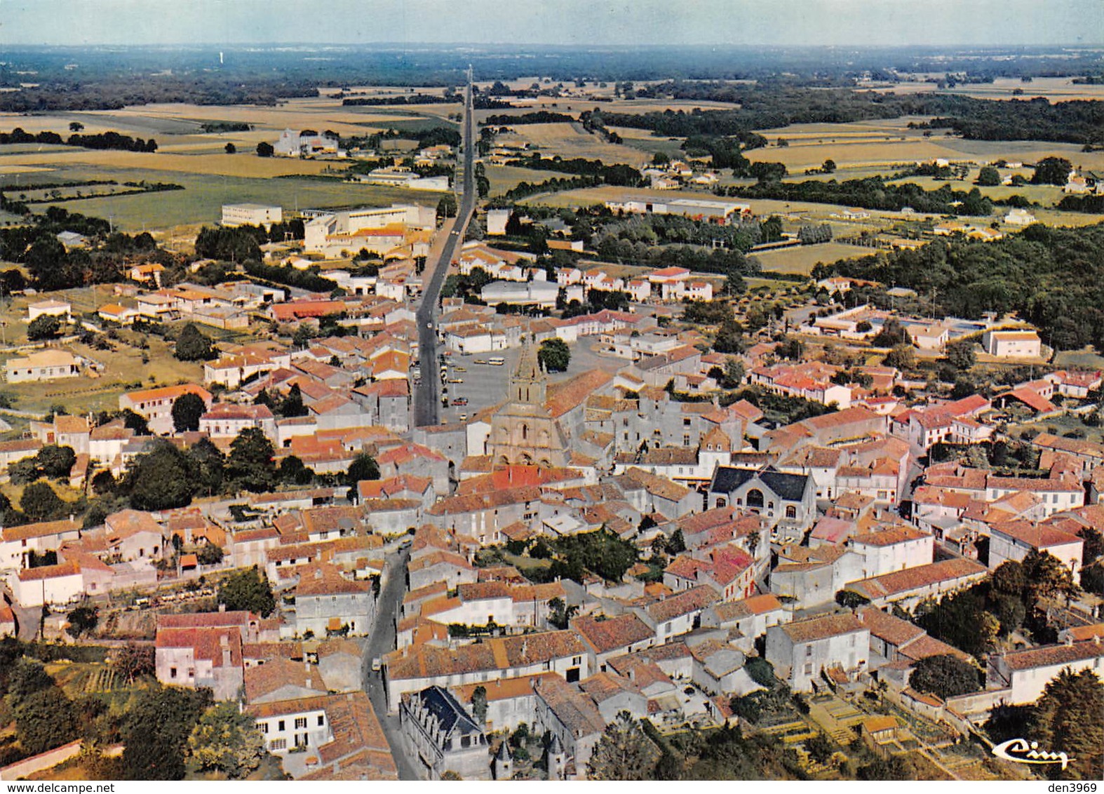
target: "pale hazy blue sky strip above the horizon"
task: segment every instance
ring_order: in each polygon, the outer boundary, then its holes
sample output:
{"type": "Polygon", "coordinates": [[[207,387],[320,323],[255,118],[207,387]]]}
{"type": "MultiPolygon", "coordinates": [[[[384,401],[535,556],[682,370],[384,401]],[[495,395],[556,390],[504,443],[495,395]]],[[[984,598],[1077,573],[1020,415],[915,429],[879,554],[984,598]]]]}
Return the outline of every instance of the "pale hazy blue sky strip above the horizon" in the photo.
{"type": "Polygon", "coordinates": [[[1104,43],[1102,0],[0,0],[14,44],[1104,43]]]}

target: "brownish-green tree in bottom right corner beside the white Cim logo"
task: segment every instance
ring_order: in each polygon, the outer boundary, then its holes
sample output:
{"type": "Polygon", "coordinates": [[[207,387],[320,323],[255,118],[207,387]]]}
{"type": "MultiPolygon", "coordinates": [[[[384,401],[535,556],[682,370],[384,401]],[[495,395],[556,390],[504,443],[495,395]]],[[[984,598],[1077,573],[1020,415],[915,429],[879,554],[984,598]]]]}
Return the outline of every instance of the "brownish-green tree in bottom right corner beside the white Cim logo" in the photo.
{"type": "Polygon", "coordinates": [[[1063,669],[1036,701],[1029,733],[1040,748],[1061,750],[1072,759],[1063,771],[1048,767],[1052,777],[1098,781],[1104,779],[1104,684],[1093,670],[1063,669]]]}

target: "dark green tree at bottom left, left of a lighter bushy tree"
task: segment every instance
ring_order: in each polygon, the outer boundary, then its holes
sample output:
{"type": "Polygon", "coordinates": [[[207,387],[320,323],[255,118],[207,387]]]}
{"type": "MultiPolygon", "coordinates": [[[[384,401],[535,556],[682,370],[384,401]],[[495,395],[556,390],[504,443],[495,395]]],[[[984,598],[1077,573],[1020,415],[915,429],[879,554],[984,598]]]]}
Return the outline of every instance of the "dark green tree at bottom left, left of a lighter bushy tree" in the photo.
{"type": "Polygon", "coordinates": [[[155,687],[139,691],[123,726],[127,780],[182,780],[184,747],[212,705],[210,689],[155,687]]]}

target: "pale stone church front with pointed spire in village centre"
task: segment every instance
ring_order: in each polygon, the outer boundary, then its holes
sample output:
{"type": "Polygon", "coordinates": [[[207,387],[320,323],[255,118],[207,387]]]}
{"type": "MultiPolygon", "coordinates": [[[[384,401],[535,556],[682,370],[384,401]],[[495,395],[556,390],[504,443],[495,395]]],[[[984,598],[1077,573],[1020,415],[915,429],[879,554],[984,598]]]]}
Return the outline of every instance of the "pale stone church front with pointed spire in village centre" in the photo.
{"type": "Polygon", "coordinates": [[[491,417],[487,452],[495,465],[564,467],[571,451],[559,422],[545,407],[548,375],[528,340],[510,378],[507,403],[491,417]]]}

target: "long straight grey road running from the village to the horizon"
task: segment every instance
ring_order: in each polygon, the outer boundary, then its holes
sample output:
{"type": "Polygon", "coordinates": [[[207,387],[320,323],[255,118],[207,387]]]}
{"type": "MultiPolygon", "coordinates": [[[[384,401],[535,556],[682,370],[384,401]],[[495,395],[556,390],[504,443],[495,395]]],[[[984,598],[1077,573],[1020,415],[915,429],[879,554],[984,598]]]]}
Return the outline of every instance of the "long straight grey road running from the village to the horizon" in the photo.
{"type": "MultiPolygon", "coordinates": [[[[437,304],[440,287],[445,283],[448,265],[464,242],[464,232],[476,208],[475,189],[475,119],[471,106],[471,71],[468,70],[468,87],[464,95],[464,126],[460,146],[464,150],[464,181],[460,184],[460,205],[452,226],[442,229],[445,241],[439,254],[431,255],[426,263],[425,285],[422,289],[422,305],[417,310],[418,360],[422,382],[414,391],[414,424],[416,426],[437,424],[440,417],[440,380],[437,378],[437,304]]],[[[434,253],[437,246],[434,246],[434,253]]]]}

